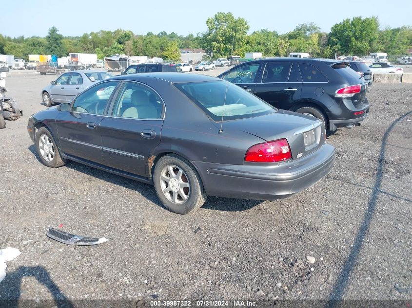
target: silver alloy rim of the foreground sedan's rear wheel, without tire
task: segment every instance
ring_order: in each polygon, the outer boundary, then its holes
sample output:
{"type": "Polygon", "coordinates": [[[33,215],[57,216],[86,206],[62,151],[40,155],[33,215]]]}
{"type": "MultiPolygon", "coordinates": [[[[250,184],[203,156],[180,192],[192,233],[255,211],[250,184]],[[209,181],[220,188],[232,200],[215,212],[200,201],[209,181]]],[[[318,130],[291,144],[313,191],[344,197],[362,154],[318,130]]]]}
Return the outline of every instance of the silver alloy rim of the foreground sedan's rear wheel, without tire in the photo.
{"type": "Polygon", "coordinates": [[[189,180],[184,171],[176,165],[163,168],[160,174],[160,187],[165,197],[175,204],[183,204],[189,198],[189,180]]]}

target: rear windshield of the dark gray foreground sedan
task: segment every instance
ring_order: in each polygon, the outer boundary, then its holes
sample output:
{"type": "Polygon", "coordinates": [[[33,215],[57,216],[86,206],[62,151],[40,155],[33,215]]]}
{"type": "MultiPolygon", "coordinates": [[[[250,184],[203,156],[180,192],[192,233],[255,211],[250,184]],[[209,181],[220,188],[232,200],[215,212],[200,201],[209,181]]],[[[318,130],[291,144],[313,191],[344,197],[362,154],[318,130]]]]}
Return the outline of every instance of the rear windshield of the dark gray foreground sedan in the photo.
{"type": "Polygon", "coordinates": [[[176,83],[213,120],[242,119],[273,113],[274,107],[227,81],[176,83]]]}

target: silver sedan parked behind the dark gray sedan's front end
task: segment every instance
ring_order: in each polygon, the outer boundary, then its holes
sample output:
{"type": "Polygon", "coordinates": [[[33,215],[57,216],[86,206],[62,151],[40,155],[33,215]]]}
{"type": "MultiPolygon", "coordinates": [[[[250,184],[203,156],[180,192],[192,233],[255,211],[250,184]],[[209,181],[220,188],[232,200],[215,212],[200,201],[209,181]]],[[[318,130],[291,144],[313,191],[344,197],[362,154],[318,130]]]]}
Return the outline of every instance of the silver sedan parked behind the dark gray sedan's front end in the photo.
{"type": "Polygon", "coordinates": [[[55,81],[50,82],[50,85],[44,87],[40,96],[46,106],[70,102],[81,91],[111,77],[114,75],[106,71],[65,72],[55,81]]]}

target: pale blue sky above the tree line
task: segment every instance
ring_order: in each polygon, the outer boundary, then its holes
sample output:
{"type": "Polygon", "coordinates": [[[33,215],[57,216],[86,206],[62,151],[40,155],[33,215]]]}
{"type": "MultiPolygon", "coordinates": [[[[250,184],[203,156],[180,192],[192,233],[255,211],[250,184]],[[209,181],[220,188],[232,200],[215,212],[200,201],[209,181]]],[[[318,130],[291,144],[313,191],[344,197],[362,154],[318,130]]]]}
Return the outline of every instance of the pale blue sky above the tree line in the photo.
{"type": "Polygon", "coordinates": [[[10,18],[6,24],[3,23],[0,33],[12,37],[46,36],[47,30],[56,26],[63,36],[81,36],[92,31],[119,28],[135,34],[166,31],[196,35],[207,30],[206,19],[219,11],[245,18],[249,22],[250,33],[267,28],[283,34],[292,31],[299,23],[310,21],[320,26],[322,31],[329,32],[344,18],[373,15],[379,18],[381,28],[395,28],[412,24],[412,2],[402,3],[397,5],[387,0],[20,0],[18,4],[9,2],[5,5],[10,18]]]}

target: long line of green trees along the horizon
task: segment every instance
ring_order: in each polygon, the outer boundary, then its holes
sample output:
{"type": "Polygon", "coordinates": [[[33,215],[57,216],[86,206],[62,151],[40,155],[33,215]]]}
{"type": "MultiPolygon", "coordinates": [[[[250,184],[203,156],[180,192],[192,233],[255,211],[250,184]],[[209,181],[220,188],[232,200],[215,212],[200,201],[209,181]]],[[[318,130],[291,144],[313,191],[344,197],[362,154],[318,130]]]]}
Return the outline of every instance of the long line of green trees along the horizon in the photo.
{"type": "Polygon", "coordinates": [[[249,23],[232,13],[218,12],[206,20],[207,31],[179,36],[162,31],[136,35],[130,30],[100,30],[82,36],[62,36],[58,29],[49,29],[46,37],[10,37],[0,34],[0,54],[14,54],[28,59],[28,54],[94,53],[98,58],[113,54],[147,55],[169,60],[180,58],[180,49],[202,48],[211,58],[246,52],[264,56],[287,56],[305,52],[313,57],[332,58],[335,54],[366,55],[370,52],[406,54],[412,47],[412,27],[380,29],[377,17],[347,18],[334,24],[329,33],[314,22],[298,24],[286,34],[262,29],[248,34],[249,23]]]}

